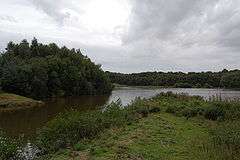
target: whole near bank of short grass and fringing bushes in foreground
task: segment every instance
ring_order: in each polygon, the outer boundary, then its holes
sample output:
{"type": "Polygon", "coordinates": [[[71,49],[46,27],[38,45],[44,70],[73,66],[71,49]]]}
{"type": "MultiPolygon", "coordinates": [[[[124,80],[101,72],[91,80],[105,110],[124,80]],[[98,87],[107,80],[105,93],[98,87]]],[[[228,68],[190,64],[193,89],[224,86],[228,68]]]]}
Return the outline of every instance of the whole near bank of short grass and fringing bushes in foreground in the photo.
{"type": "Polygon", "coordinates": [[[161,93],[127,107],[117,102],[103,111],[61,114],[35,144],[40,159],[237,160],[239,118],[238,101],[161,93]]]}

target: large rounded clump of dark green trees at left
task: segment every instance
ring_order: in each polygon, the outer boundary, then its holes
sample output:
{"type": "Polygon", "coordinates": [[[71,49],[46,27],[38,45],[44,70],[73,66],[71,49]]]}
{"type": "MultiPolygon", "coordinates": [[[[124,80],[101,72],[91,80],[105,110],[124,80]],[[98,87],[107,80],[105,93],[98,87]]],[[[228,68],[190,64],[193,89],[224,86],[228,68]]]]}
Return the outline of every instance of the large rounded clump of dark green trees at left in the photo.
{"type": "Polygon", "coordinates": [[[107,94],[112,84],[101,69],[79,49],[55,43],[9,42],[0,55],[0,87],[27,97],[107,94]]]}

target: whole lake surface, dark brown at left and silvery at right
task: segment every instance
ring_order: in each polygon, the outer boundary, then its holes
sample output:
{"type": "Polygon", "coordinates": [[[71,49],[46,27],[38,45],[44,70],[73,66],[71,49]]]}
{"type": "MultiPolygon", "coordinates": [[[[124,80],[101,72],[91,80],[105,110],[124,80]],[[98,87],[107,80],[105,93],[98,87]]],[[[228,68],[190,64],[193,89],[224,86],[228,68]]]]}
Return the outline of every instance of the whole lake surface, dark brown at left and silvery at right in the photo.
{"type": "Polygon", "coordinates": [[[153,87],[119,87],[109,96],[80,96],[55,98],[46,100],[46,105],[40,108],[16,111],[14,113],[0,113],[0,128],[11,136],[32,136],[38,128],[49,120],[67,110],[96,110],[105,104],[121,99],[123,105],[131,103],[136,97],[150,98],[160,92],[187,93],[199,95],[208,99],[212,96],[221,96],[223,99],[239,99],[240,91],[224,89],[179,89],[153,87]]]}

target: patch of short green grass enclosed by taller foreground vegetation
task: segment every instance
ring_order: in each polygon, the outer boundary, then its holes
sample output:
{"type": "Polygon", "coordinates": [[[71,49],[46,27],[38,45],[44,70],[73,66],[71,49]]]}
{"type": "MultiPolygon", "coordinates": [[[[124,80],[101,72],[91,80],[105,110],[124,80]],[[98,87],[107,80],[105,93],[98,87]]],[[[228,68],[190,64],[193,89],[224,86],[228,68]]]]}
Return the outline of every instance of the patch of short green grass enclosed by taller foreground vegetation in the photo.
{"type": "MultiPolygon", "coordinates": [[[[153,114],[138,123],[121,129],[112,129],[99,138],[82,145],[76,159],[85,154],[87,159],[149,159],[149,160],[186,160],[193,159],[192,145],[195,139],[209,137],[207,128],[210,123],[202,119],[186,120],[171,114],[153,114]]],[[[72,154],[55,155],[53,160],[68,159],[72,154]]]]}

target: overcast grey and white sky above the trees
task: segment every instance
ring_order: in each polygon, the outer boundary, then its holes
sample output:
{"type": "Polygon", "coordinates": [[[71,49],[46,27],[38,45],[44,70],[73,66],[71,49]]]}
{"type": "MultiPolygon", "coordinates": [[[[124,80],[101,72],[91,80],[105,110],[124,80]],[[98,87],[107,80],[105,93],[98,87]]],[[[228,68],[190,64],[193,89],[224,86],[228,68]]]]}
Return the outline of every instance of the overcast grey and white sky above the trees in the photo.
{"type": "Polygon", "coordinates": [[[0,50],[33,37],[114,72],[239,69],[240,0],[0,0],[0,50]]]}

